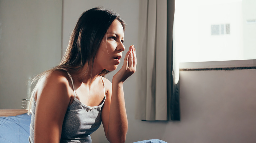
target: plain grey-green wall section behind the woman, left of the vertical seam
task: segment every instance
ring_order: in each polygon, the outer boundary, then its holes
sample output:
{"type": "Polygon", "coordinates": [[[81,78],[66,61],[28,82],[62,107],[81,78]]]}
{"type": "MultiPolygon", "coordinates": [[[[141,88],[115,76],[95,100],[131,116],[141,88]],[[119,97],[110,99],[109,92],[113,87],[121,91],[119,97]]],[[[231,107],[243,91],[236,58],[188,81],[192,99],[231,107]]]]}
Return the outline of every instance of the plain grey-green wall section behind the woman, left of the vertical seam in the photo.
{"type": "Polygon", "coordinates": [[[62,0],[0,0],[0,109],[20,109],[28,80],[61,59],[62,0]]]}

